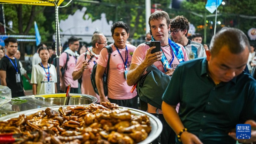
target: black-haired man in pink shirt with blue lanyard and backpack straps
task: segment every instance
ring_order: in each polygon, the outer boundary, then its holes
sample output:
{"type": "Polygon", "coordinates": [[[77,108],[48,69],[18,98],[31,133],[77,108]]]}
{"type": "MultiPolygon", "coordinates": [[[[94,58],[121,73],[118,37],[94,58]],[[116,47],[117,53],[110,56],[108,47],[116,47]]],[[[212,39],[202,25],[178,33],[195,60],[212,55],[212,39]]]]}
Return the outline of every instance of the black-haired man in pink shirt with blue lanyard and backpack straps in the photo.
{"type": "Polygon", "coordinates": [[[138,108],[137,92],[131,93],[132,86],[128,86],[126,83],[126,74],[136,47],[126,44],[126,40],[129,37],[129,28],[123,21],[114,23],[111,27],[111,33],[114,43],[110,44],[113,52],[109,62],[108,98],[104,94],[102,81],[102,76],[108,63],[108,51],[106,48],[100,52],[95,76],[100,102],[109,101],[123,107],[138,108]]]}

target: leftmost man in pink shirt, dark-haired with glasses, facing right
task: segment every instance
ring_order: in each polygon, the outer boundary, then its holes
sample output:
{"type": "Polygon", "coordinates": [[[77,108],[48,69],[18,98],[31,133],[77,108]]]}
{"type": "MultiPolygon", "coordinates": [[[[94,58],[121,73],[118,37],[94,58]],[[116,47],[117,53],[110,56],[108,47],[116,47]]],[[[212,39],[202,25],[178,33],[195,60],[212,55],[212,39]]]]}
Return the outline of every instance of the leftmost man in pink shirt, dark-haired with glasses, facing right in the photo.
{"type": "Polygon", "coordinates": [[[76,67],[76,59],[79,56],[75,52],[79,48],[79,39],[76,37],[70,37],[68,39],[69,49],[65,50],[60,55],[60,69],[64,68],[65,73],[62,76],[60,71],[60,91],[66,92],[68,84],[71,84],[70,93],[77,93],[78,81],[73,80],[72,73],[76,67]]]}

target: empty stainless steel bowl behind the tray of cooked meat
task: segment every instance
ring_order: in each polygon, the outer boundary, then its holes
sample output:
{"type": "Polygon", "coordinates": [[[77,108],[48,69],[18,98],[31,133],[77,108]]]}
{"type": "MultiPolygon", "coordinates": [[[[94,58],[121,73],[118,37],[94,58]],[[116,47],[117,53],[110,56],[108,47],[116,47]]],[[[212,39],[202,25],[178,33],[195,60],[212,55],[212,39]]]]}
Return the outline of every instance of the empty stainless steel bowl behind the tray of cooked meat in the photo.
{"type": "MultiPolygon", "coordinates": [[[[35,95],[36,99],[43,100],[59,106],[64,105],[66,93],[35,95]]],[[[96,103],[97,98],[87,94],[70,93],[69,105],[87,105],[96,103]]]]}

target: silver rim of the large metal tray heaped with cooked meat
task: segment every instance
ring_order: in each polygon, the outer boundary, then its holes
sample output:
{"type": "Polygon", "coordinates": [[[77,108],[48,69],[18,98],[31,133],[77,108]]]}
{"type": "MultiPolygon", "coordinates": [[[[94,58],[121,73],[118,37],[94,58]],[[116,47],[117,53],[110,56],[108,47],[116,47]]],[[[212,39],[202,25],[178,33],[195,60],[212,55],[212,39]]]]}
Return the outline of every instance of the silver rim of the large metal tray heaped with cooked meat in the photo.
{"type": "MultiPolygon", "coordinates": [[[[76,106],[79,106],[79,105],[76,105],[76,106]]],[[[89,105],[81,105],[81,106],[89,106],[89,105]]],[[[52,108],[52,109],[58,111],[60,107],[61,106],[49,107],[49,108],[52,108]]],[[[62,107],[66,108],[67,106],[62,106],[62,107]]],[[[119,107],[119,108],[126,108],[126,107],[119,107]]],[[[31,115],[31,114],[36,113],[39,110],[45,110],[45,109],[46,108],[36,108],[36,109],[21,111],[18,113],[0,117],[0,121],[7,121],[11,118],[19,117],[21,114],[31,115]]],[[[134,109],[134,108],[127,108],[127,109],[129,109],[132,112],[132,114],[134,114],[134,115],[147,115],[150,120],[150,126],[152,127],[151,132],[149,133],[148,137],[145,140],[141,141],[138,144],[149,144],[161,134],[161,132],[163,130],[163,125],[162,125],[161,121],[156,116],[153,116],[147,112],[144,112],[144,111],[141,111],[138,109],[134,109]]]]}

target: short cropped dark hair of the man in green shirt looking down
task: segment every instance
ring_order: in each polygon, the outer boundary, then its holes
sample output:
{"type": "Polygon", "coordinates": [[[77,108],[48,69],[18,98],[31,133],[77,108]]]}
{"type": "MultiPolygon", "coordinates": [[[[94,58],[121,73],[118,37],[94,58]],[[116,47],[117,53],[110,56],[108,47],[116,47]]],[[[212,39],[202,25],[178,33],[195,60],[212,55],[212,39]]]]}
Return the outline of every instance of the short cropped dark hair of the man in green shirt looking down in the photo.
{"type": "Polygon", "coordinates": [[[228,46],[231,53],[239,54],[247,47],[251,51],[250,43],[244,32],[237,28],[224,28],[212,37],[210,51],[216,56],[223,46],[228,46]]]}

